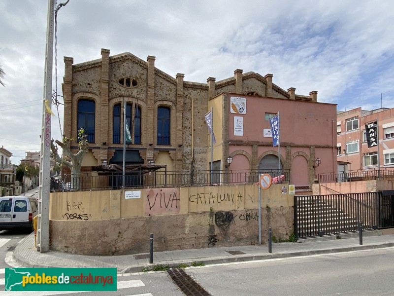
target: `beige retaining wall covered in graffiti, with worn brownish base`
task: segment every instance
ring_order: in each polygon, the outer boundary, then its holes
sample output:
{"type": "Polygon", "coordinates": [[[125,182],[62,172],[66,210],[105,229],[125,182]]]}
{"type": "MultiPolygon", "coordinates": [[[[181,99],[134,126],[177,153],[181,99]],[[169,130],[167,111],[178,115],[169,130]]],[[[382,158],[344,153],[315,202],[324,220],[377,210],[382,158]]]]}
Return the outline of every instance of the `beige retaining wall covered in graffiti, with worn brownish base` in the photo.
{"type": "MultiPolygon", "coordinates": [[[[150,188],[52,193],[51,250],[120,255],[258,243],[258,186],[150,188]]],[[[262,237],[293,231],[293,196],[282,185],[262,190],[262,237]]]]}

